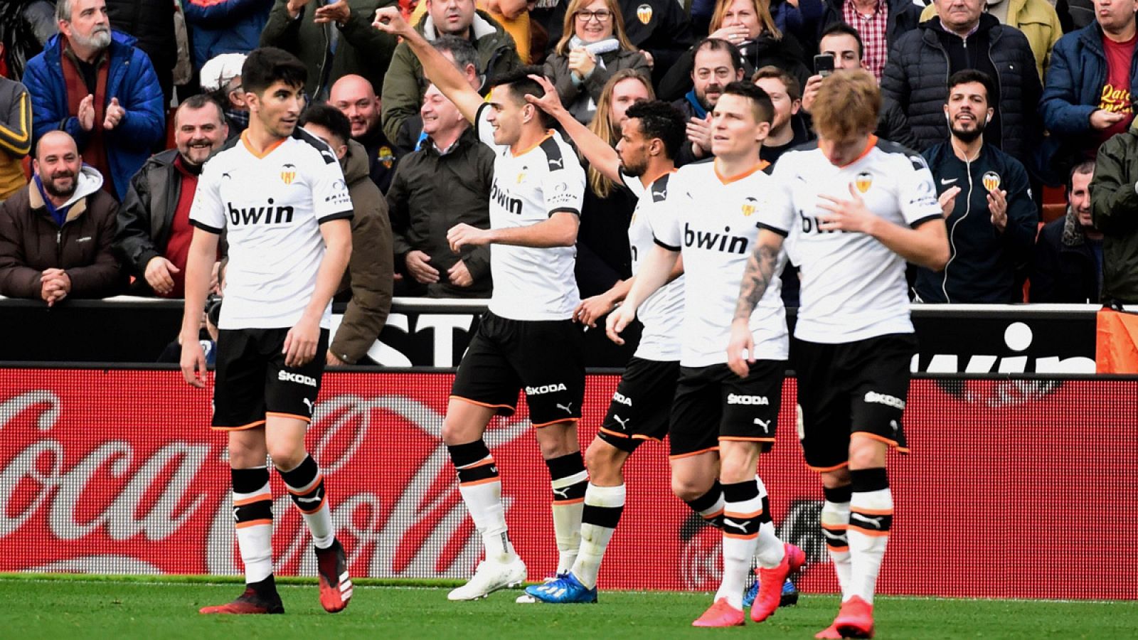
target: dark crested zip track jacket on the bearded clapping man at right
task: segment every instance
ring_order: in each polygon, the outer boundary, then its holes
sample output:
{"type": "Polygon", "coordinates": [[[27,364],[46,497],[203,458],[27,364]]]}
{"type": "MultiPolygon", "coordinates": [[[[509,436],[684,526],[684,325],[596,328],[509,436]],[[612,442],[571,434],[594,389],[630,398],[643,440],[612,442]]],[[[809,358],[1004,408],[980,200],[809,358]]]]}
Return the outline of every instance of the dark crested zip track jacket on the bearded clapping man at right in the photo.
{"type": "MultiPolygon", "coordinates": [[[[1034,74],[1031,74],[1034,75],[1034,74]]],[[[923,302],[1023,302],[1015,271],[1031,256],[1038,215],[1031,202],[1028,172],[1020,161],[991,145],[980,149],[971,166],[956,157],[951,142],[924,154],[938,192],[959,187],[948,224],[948,264],[934,272],[917,268],[915,289],[923,302]],[[991,222],[983,175],[995,171],[1007,191],[1007,227],[1000,233],[991,222]]]]}

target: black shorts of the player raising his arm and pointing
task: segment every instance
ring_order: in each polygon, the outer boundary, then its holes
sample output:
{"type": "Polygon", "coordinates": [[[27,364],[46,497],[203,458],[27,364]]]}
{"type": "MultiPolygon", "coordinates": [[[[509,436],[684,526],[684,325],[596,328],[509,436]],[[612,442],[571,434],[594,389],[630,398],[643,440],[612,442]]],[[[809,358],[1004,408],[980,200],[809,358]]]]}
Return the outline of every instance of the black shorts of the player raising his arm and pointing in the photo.
{"type": "Polygon", "coordinates": [[[572,320],[510,320],[487,311],[459,363],[451,397],[512,416],[525,391],[535,427],[577,420],[585,400],[582,342],[572,320]]]}

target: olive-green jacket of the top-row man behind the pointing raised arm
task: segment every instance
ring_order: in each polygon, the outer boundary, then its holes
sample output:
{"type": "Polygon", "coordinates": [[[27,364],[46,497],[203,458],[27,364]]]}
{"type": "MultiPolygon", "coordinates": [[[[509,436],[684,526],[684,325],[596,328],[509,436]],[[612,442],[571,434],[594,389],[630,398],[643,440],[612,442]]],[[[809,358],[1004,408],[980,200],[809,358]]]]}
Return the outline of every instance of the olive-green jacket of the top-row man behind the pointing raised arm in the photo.
{"type": "MultiPolygon", "coordinates": [[[[484,90],[486,79],[521,66],[513,38],[489,14],[475,11],[470,30],[475,39],[475,49],[478,51],[478,73],[484,77],[484,90]]],[[[419,20],[415,31],[428,42],[434,42],[438,36],[430,14],[419,20]]],[[[382,121],[384,134],[388,140],[399,139],[399,128],[403,123],[419,115],[424,91],[427,91],[427,80],[423,77],[423,67],[407,43],[401,42],[395,48],[391,66],[387,69],[387,77],[384,79],[382,121]]]]}

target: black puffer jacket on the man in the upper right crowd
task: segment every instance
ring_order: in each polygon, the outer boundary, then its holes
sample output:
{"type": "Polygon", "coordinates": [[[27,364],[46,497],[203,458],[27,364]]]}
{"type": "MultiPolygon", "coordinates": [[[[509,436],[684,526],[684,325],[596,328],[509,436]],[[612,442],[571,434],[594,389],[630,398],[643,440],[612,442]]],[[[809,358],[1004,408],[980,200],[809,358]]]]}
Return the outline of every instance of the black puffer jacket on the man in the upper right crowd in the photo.
{"type": "MultiPolygon", "coordinates": [[[[943,32],[940,18],[932,18],[902,34],[890,49],[881,79],[882,96],[894,100],[908,116],[917,150],[948,140],[945,99],[950,67],[938,32],[943,32]]],[[[993,80],[999,104],[993,106],[999,112],[1000,147],[1024,166],[1033,167],[1032,141],[1042,133],[1037,110],[1042,88],[1038,74],[1026,73],[1036,66],[1031,46],[1020,30],[999,24],[988,14],[980,16],[980,27],[968,43],[978,34],[987,35],[988,60],[997,71],[993,80]]]]}

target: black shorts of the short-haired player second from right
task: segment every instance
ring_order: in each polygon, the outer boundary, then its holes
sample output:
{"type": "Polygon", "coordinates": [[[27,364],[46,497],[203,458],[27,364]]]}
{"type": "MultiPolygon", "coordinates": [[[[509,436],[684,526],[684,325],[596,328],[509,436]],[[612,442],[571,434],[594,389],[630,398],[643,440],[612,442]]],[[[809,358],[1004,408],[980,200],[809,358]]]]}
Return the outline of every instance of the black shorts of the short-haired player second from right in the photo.
{"type": "Polygon", "coordinates": [[[715,451],[720,440],[759,442],[762,451],[769,451],[785,375],[785,360],[757,360],[745,378],[726,364],[681,367],[668,428],[669,456],[715,451]]]}

